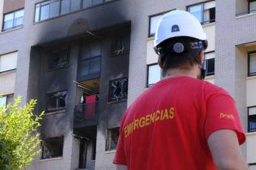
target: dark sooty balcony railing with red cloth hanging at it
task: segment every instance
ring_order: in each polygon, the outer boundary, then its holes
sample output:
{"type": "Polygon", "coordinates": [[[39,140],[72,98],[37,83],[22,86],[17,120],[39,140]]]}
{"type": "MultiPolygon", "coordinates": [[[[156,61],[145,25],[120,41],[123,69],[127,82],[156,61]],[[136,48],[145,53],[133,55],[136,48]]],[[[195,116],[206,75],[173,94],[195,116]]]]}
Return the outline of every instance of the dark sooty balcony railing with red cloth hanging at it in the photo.
{"type": "Polygon", "coordinates": [[[74,128],[97,125],[98,106],[98,102],[76,105],[74,110],[74,128]]]}

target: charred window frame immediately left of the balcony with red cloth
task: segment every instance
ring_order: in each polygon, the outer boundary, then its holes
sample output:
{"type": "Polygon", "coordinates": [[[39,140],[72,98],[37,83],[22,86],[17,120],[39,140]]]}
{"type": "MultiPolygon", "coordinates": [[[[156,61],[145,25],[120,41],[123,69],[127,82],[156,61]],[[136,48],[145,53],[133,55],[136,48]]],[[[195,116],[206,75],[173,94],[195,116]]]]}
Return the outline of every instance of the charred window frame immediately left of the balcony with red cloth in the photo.
{"type": "Polygon", "coordinates": [[[46,113],[51,113],[51,112],[54,112],[54,111],[60,111],[60,110],[66,110],[67,109],[67,90],[63,90],[63,91],[56,91],[56,92],[49,92],[49,93],[47,93],[46,94],[46,105],[45,105],[45,111],[46,111],[46,113]],[[66,92],[66,105],[65,105],[65,107],[62,107],[62,108],[60,108],[59,107],[59,101],[57,102],[57,100],[59,100],[59,95],[58,95],[58,98],[56,99],[56,107],[54,108],[54,109],[49,109],[48,108],[48,103],[49,103],[49,97],[51,96],[51,95],[53,95],[53,94],[58,94],[58,93],[61,93],[61,92],[66,92]],[[57,107],[57,105],[58,105],[58,107],[57,107]]]}

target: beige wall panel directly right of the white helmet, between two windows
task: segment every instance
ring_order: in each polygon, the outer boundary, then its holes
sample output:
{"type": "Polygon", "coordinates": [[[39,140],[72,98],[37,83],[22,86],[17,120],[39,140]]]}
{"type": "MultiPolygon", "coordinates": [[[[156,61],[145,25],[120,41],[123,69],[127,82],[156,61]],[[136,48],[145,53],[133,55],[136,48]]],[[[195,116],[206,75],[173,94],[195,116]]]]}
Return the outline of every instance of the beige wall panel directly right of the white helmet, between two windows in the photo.
{"type": "Polygon", "coordinates": [[[203,25],[203,31],[207,34],[208,47],[205,52],[215,51],[215,24],[203,25]]]}

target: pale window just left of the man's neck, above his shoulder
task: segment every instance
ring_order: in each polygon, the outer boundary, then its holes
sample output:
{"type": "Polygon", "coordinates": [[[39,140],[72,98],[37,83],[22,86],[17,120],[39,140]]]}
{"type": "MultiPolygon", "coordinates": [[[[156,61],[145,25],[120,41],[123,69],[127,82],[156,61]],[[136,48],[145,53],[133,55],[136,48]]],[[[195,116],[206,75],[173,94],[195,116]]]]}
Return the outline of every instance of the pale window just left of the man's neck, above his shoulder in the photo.
{"type": "Polygon", "coordinates": [[[148,65],[147,87],[152,86],[161,79],[161,68],[157,63],[148,65]]]}

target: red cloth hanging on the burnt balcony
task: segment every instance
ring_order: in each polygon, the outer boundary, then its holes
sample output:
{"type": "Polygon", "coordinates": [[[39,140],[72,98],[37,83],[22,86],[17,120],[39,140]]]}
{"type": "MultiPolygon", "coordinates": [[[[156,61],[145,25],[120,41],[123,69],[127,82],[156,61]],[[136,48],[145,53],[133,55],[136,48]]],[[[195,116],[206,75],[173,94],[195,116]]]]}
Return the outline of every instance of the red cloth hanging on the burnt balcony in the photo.
{"type": "Polygon", "coordinates": [[[96,95],[85,97],[85,119],[93,119],[95,116],[96,95]]]}

